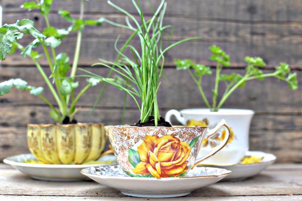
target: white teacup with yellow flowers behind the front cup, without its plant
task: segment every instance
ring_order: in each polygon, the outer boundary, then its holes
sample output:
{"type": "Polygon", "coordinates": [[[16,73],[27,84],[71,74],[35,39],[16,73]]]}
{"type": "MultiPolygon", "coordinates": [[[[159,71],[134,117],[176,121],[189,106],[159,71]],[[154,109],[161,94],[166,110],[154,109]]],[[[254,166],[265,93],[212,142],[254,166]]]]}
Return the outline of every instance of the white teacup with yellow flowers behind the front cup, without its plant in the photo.
{"type": "MultiPolygon", "coordinates": [[[[175,116],[182,125],[208,126],[213,128],[221,119],[225,119],[231,127],[231,138],[229,144],[211,158],[203,161],[203,164],[235,164],[240,162],[249,150],[249,130],[254,111],[239,109],[220,109],[211,112],[209,109],[185,109],[180,112],[170,110],[166,114],[166,121],[171,123],[171,117],[175,116]]],[[[223,138],[223,129],[219,135],[207,137],[203,140],[203,148],[199,150],[204,155],[219,144],[223,138]]]]}

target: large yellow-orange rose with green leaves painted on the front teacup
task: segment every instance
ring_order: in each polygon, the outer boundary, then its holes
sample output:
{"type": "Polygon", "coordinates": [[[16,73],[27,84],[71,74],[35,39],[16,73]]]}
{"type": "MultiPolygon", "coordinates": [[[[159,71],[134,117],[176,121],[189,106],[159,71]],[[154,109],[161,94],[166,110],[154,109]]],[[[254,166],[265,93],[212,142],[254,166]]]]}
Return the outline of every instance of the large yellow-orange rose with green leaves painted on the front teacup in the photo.
{"type": "Polygon", "coordinates": [[[144,176],[179,176],[188,170],[188,157],[198,138],[190,144],[173,135],[145,136],[137,151],[129,149],[129,162],[133,173],[144,176]]]}

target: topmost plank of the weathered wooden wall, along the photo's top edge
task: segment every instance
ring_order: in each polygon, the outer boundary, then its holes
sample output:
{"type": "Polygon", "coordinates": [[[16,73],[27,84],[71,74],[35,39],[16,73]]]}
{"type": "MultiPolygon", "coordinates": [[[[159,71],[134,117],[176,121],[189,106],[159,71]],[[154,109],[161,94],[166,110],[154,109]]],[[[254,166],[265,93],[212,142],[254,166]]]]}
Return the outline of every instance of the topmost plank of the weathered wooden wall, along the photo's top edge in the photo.
{"type": "MultiPolygon", "coordinates": [[[[4,12],[26,12],[20,9],[23,0],[2,0],[4,12]]],[[[112,1],[130,13],[137,13],[131,3],[127,1],[112,1]]],[[[141,6],[145,14],[151,14],[148,6],[149,1],[141,1],[141,6]]],[[[152,0],[153,5],[159,5],[159,1],[152,0]]],[[[236,22],[298,22],[302,21],[302,14],[300,12],[301,2],[299,0],[169,0],[167,15],[201,18],[208,20],[233,20],[236,22]]],[[[73,0],[55,1],[53,5],[54,11],[59,8],[68,9],[71,12],[79,12],[79,4],[74,3],[73,0]]],[[[89,13],[119,13],[104,1],[91,1],[86,4],[86,12],[89,13]]]]}

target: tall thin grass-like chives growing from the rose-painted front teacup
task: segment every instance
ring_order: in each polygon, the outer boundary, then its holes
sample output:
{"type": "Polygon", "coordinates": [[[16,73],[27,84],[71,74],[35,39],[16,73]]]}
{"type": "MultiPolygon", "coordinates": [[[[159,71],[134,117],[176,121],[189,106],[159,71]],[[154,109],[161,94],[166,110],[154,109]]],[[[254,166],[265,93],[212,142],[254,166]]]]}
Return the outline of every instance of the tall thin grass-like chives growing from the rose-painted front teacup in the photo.
{"type": "Polygon", "coordinates": [[[140,112],[140,123],[145,123],[149,117],[154,117],[155,126],[158,126],[161,115],[159,112],[157,93],[161,85],[161,77],[164,70],[164,55],[171,48],[196,38],[183,39],[164,48],[163,36],[165,32],[172,27],[170,25],[163,25],[167,9],[166,1],[161,1],[157,10],[154,11],[154,15],[149,20],[143,15],[140,1],[131,1],[138,12],[139,20],[124,9],[108,1],[110,6],[126,15],[126,25],[118,24],[107,19],[104,21],[113,26],[132,31],[139,39],[139,48],[126,45],[131,52],[131,56],[128,57],[122,54],[117,48],[118,37],[115,48],[117,52],[122,55],[121,59],[115,63],[100,59],[100,63],[94,64],[94,66],[102,65],[108,67],[116,73],[115,78],[104,79],[97,74],[83,70],[89,73],[91,78],[103,80],[130,95],[134,99],[140,112]]]}

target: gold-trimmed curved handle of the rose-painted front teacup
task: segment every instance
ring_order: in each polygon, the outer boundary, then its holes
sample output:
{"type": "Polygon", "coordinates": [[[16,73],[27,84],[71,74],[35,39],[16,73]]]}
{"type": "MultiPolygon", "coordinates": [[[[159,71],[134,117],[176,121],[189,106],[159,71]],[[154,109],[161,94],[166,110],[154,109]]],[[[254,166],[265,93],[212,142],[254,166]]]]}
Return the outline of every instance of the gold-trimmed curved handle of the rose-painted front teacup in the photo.
{"type": "MultiPolygon", "coordinates": [[[[191,169],[193,169],[196,165],[198,165],[201,161],[208,159],[209,157],[215,155],[218,151],[220,151],[226,144],[228,144],[228,141],[230,139],[230,128],[228,127],[228,125],[226,125],[226,122],[224,119],[221,120],[221,122],[219,122],[217,124],[217,126],[215,126],[215,128],[213,129],[209,129],[208,133],[209,135],[207,136],[207,138],[213,136],[215,133],[217,133],[219,131],[219,129],[221,127],[225,127],[226,128],[226,132],[225,132],[225,136],[223,141],[216,147],[214,147],[210,153],[206,154],[205,156],[202,156],[201,158],[197,158],[197,162],[192,166],[191,169]]],[[[202,143],[200,143],[199,146],[202,146],[202,143]]]]}

